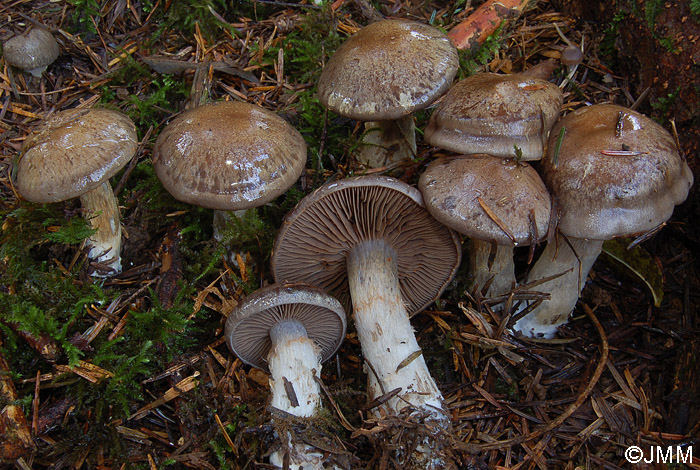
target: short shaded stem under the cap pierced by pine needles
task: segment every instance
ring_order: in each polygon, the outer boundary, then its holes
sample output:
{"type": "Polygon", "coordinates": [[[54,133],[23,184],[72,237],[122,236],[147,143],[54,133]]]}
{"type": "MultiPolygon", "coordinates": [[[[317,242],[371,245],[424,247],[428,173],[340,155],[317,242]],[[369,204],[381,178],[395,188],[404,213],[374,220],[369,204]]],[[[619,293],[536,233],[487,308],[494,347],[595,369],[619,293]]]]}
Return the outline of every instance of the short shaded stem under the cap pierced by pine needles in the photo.
{"type": "Polygon", "coordinates": [[[513,246],[492,244],[472,238],[469,268],[469,288],[472,292],[476,289],[481,290],[490,281],[491,285],[485,296],[491,298],[504,295],[515,285],[513,246]],[[492,250],[495,250],[495,253],[491,260],[492,250]]]}

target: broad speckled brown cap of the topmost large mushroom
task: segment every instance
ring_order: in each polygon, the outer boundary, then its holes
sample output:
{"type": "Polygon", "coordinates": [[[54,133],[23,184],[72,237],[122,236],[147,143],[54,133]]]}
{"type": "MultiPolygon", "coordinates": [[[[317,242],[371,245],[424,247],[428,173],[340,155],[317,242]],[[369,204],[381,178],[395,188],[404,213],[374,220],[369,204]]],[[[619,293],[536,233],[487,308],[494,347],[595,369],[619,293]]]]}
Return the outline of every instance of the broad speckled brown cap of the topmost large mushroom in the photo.
{"type": "Polygon", "coordinates": [[[345,41],[318,82],[321,103],[360,121],[393,120],[423,109],[452,83],[459,57],[437,28],[383,20],[345,41]]]}

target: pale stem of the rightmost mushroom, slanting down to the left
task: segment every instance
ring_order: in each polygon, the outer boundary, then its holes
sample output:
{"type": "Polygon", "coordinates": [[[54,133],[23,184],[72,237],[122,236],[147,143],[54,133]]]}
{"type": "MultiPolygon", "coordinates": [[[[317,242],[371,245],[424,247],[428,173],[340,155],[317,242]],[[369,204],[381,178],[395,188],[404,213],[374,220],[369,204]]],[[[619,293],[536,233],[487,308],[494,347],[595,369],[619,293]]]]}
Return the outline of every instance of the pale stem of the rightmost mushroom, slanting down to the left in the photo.
{"type": "Polygon", "coordinates": [[[532,312],[518,320],[513,328],[532,338],[553,337],[557,328],[567,322],[574,310],[588,272],[602,248],[602,240],[564,238],[561,235],[557,235],[556,241],[548,243],[532,267],[528,282],[558,274],[561,276],[532,288],[534,291],[550,294],[550,299],[544,300],[532,312]]]}

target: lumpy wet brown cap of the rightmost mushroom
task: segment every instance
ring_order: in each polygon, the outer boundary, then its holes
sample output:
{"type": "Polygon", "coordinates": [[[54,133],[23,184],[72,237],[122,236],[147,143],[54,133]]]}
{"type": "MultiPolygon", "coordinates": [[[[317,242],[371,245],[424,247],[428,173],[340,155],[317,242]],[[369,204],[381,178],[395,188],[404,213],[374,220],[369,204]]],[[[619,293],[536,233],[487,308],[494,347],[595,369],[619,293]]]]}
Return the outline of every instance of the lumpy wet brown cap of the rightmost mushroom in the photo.
{"type": "Polygon", "coordinates": [[[542,179],[557,198],[561,232],[595,240],[657,227],[693,185],[671,134],[643,114],[613,104],[580,108],[554,126],[542,179]]]}

